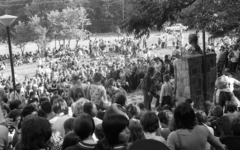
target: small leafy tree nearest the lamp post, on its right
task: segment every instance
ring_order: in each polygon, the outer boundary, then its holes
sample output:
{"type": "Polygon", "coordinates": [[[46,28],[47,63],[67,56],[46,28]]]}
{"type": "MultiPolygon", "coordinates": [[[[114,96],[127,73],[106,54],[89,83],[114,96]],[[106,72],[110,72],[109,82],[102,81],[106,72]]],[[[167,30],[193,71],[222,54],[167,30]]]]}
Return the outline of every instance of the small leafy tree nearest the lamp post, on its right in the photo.
{"type": "Polygon", "coordinates": [[[21,49],[22,56],[24,56],[25,46],[28,42],[31,41],[31,28],[27,23],[21,21],[18,22],[18,25],[14,27],[14,44],[21,49]]]}

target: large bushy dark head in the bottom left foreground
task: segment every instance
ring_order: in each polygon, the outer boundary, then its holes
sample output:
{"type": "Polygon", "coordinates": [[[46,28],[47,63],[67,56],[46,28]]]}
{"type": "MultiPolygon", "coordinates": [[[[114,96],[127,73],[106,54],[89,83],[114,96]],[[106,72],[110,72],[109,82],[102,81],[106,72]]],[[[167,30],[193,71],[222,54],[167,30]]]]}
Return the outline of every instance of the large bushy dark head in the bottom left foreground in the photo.
{"type": "Polygon", "coordinates": [[[47,119],[28,116],[22,122],[21,149],[45,149],[51,135],[51,124],[47,119]]]}

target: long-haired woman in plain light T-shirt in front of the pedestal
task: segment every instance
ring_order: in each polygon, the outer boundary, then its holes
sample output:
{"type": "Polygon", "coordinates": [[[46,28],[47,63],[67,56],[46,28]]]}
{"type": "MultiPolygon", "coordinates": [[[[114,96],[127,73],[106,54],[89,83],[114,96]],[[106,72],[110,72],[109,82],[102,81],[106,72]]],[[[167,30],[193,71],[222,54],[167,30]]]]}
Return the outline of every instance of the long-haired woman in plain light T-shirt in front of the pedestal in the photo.
{"type": "Polygon", "coordinates": [[[168,136],[170,150],[205,150],[207,142],[216,149],[225,149],[205,126],[196,125],[195,113],[190,104],[179,104],[174,111],[174,120],[177,130],[168,136]]]}

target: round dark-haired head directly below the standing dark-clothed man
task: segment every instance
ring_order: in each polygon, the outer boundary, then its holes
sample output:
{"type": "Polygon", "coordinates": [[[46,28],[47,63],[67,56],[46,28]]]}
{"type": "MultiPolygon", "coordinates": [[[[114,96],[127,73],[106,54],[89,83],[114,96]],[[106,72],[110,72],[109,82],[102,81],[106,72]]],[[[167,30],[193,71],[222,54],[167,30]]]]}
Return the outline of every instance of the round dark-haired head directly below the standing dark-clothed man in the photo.
{"type": "Polygon", "coordinates": [[[143,131],[154,133],[159,128],[158,117],[154,112],[147,112],[140,120],[143,131]]]}

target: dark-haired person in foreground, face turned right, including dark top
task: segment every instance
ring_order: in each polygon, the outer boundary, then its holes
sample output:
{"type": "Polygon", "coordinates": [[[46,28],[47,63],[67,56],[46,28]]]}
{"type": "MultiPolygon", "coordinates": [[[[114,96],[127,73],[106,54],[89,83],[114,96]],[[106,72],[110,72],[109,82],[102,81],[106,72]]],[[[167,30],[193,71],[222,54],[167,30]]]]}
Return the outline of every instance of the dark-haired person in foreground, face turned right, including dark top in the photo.
{"type": "Polygon", "coordinates": [[[126,150],[130,139],[129,120],[123,115],[113,114],[103,119],[104,138],[94,150],[126,150]]]}

